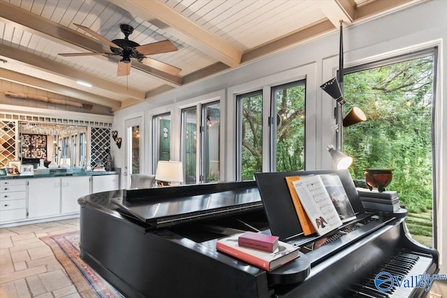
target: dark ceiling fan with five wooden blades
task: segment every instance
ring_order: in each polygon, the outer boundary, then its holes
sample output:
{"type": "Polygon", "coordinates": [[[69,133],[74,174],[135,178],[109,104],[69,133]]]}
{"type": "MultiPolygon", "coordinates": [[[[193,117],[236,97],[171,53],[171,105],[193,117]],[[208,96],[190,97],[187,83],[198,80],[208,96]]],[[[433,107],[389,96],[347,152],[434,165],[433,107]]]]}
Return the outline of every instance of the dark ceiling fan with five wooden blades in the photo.
{"type": "Polygon", "coordinates": [[[179,69],[170,64],[160,62],[158,60],[146,57],[146,55],[160,54],[163,52],[173,52],[177,50],[177,47],[171,41],[159,41],[156,43],[147,43],[146,45],[139,45],[134,41],[129,41],[129,35],[133,32],[133,27],[129,24],[120,24],[119,28],[124,33],[124,39],[114,39],[109,41],[107,38],[101,36],[95,31],[82,26],[80,24],[74,24],[80,27],[84,31],[88,32],[94,38],[101,41],[105,45],[110,46],[112,52],[77,52],[77,53],[60,53],[59,55],[64,57],[74,56],[89,56],[89,55],[103,55],[103,56],[121,56],[122,59],[118,62],[117,76],[129,76],[131,73],[131,58],[135,58],[138,62],[150,66],[154,69],[159,69],[173,76],[177,76],[182,69],[179,69]]]}

